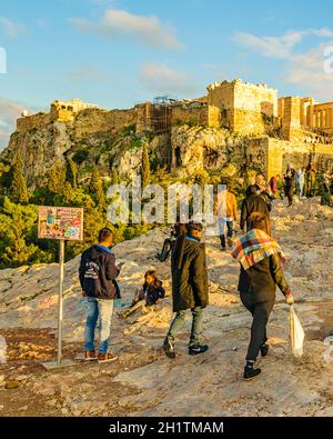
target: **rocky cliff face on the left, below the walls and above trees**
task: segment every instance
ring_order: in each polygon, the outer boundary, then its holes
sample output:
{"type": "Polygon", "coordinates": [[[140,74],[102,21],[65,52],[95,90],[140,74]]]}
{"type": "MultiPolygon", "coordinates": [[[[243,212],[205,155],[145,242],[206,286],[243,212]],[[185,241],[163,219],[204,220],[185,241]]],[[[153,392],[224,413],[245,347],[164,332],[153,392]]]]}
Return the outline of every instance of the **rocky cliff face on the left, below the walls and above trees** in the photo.
{"type": "MultiPolygon", "coordinates": [[[[93,163],[105,177],[111,176],[112,169],[118,169],[120,176],[138,172],[144,139],[139,139],[130,126],[115,132],[105,128],[99,131],[97,126],[94,132],[81,132],[79,122],[53,121],[39,129],[14,132],[0,161],[11,162],[20,151],[29,186],[42,182],[56,161],[65,163],[68,157],[79,164],[81,179],[90,174],[93,163]]],[[[93,114],[90,123],[94,123],[93,114]]]]}

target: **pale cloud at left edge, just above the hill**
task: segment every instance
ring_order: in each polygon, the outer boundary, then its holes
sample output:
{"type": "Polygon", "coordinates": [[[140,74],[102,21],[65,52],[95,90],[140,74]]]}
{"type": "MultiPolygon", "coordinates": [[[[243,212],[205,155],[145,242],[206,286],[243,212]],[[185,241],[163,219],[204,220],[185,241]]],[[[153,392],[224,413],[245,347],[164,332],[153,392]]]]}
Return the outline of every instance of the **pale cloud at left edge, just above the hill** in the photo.
{"type": "Polygon", "coordinates": [[[16,121],[24,110],[29,110],[29,108],[0,97],[0,150],[7,147],[9,137],[16,129],[16,121]]]}

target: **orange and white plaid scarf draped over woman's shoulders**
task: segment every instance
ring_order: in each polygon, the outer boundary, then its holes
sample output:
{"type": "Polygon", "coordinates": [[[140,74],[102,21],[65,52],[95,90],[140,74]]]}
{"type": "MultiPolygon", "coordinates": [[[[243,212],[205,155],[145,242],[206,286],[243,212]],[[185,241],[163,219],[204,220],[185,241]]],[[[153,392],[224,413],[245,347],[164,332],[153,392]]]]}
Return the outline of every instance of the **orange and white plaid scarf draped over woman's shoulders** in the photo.
{"type": "Polygon", "coordinates": [[[233,258],[242,265],[244,270],[249,270],[272,255],[280,255],[283,261],[285,260],[285,255],[279,243],[259,229],[253,229],[241,237],[232,252],[233,258]]]}

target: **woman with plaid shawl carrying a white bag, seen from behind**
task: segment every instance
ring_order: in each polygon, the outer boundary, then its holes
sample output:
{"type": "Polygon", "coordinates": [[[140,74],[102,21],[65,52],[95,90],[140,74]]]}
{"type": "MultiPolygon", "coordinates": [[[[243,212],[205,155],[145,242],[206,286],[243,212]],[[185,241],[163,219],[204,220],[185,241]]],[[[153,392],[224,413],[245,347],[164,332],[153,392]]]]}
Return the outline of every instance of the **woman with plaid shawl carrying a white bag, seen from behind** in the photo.
{"type": "Polygon", "coordinates": [[[259,352],[262,357],[269,353],[266,325],[275,303],[276,286],[285,296],[286,303],[294,302],[282,269],[284,255],[278,242],[270,237],[269,226],[266,216],[252,213],[250,231],[239,239],[232,253],[241,265],[241,300],[253,317],[244,368],[245,380],[261,373],[261,369],[255,368],[259,352]]]}

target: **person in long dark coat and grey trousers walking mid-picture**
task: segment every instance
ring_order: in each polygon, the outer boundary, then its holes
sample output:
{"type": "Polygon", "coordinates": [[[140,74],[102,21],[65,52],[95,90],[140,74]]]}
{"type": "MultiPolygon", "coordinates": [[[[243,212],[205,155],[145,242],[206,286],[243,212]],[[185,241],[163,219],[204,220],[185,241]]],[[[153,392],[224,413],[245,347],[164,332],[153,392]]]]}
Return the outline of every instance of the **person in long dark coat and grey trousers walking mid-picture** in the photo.
{"type": "Polygon", "coordinates": [[[190,222],[186,230],[186,236],[176,239],[171,259],[173,311],[176,315],[163,345],[169,358],[175,358],[174,338],[185,323],[188,309],[193,316],[189,353],[196,356],[209,349],[200,345],[203,310],[209,303],[205,248],[200,242],[202,225],[190,222]]]}

